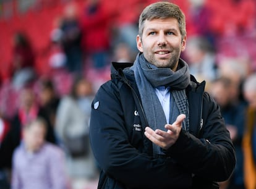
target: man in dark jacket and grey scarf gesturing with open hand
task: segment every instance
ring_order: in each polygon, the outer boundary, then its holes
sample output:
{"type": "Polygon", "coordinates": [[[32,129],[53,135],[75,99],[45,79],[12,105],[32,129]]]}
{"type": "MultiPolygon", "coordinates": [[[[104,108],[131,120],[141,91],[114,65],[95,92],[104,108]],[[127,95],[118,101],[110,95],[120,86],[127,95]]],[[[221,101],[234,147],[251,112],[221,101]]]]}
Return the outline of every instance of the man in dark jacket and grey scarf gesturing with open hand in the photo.
{"type": "Polygon", "coordinates": [[[220,107],[179,58],[185,28],[175,4],[146,7],[134,64],[113,64],[98,90],[90,121],[98,188],[218,188],[233,172],[220,107]]]}

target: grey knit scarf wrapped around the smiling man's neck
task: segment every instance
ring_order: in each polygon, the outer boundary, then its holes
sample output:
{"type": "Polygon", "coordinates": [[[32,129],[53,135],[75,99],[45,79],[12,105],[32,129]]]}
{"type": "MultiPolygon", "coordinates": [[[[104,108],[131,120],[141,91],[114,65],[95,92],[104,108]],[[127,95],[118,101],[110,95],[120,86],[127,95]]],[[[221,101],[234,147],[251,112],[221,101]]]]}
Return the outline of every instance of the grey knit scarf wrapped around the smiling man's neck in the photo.
{"type": "MultiPolygon", "coordinates": [[[[166,130],[166,118],[163,107],[155,93],[158,86],[171,87],[170,116],[169,123],[172,124],[177,115],[186,114],[182,128],[189,131],[189,104],[186,96],[186,87],[190,83],[190,73],[186,62],[179,59],[176,72],[168,68],[158,68],[150,64],[142,53],[135,59],[134,65],[130,67],[134,71],[135,80],[139,88],[142,106],[145,111],[148,124],[154,130],[160,128],[166,130]],[[173,98],[174,99],[173,99],[173,98]],[[156,119],[157,118],[157,119],[156,119]]],[[[153,145],[153,153],[161,154],[160,147],[153,145]]]]}

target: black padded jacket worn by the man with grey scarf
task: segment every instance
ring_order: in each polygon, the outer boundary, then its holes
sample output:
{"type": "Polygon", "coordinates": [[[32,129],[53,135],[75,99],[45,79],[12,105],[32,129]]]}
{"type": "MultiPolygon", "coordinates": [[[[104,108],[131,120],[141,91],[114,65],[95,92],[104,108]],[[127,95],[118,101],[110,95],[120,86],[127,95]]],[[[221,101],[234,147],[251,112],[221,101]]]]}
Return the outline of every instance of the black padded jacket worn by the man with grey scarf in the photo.
{"type": "Polygon", "coordinates": [[[205,82],[191,76],[190,132],[182,130],[166,156],[156,158],[143,134],[148,124],[134,74],[124,69],[131,65],[113,63],[112,79],[92,103],[90,141],[102,169],[98,188],[207,189],[228,179],[236,163],[234,147],[220,107],[204,92],[205,82]]]}

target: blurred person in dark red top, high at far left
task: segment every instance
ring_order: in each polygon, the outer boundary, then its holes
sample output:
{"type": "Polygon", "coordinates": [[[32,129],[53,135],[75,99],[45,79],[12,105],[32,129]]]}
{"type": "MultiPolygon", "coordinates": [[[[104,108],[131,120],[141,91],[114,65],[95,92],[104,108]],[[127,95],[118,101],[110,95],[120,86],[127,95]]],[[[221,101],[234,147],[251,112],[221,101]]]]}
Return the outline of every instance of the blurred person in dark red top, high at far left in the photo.
{"type": "Polygon", "coordinates": [[[12,85],[18,90],[36,76],[35,52],[29,38],[22,32],[13,36],[11,75],[12,85]]]}

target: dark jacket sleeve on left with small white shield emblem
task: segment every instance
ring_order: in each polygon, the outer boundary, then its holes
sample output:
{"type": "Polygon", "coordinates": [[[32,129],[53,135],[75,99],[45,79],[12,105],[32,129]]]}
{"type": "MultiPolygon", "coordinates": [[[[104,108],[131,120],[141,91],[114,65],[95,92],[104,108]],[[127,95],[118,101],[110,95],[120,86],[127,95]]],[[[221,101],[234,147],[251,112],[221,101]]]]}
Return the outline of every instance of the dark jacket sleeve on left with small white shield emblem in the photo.
{"type": "Polygon", "coordinates": [[[93,153],[105,174],[132,188],[191,186],[192,174],[171,159],[150,157],[130,145],[125,119],[116,85],[105,83],[93,100],[90,120],[93,153]]]}

